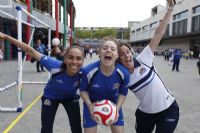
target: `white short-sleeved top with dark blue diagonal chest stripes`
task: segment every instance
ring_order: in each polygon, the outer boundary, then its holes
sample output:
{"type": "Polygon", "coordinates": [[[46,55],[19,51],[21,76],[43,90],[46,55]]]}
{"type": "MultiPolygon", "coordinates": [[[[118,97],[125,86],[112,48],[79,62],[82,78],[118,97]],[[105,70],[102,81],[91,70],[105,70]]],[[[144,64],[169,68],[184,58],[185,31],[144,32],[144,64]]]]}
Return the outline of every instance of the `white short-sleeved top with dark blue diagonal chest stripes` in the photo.
{"type": "Polygon", "coordinates": [[[138,108],[145,113],[158,113],[174,101],[172,93],[159,78],[154,66],[154,55],[149,47],[136,57],[134,73],[130,74],[129,89],[140,100],[138,108]]]}

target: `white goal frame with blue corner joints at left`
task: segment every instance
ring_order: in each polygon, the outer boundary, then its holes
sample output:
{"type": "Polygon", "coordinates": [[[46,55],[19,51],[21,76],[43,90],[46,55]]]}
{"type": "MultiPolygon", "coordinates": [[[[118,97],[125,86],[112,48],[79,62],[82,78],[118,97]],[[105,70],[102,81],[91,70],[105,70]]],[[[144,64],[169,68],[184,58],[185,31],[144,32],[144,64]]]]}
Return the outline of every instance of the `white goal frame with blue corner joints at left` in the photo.
{"type": "MultiPolygon", "coordinates": [[[[10,1],[10,0],[9,0],[10,1]]],[[[35,16],[33,16],[32,14],[30,14],[29,12],[27,12],[25,9],[23,9],[21,6],[16,6],[15,9],[17,10],[17,18],[15,18],[14,16],[4,12],[1,10],[1,8],[14,8],[12,6],[12,4],[8,4],[8,6],[6,5],[0,5],[0,12],[3,13],[4,15],[15,19],[17,21],[17,35],[18,35],[18,40],[22,41],[22,23],[31,26],[34,30],[32,31],[30,40],[29,40],[29,45],[31,43],[31,40],[33,38],[33,33],[35,31],[35,25],[32,25],[31,23],[25,22],[22,20],[22,13],[25,13],[27,16],[29,16],[30,18],[34,19],[35,21],[37,21],[39,24],[43,25],[44,27],[48,28],[48,51],[50,53],[51,50],[51,29],[50,26],[47,25],[46,23],[42,22],[41,20],[37,19],[35,16]]],[[[41,28],[41,27],[40,27],[41,28]]],[[[25,61],[26,56],[24,57],[24,61],[25,61]]],[[[18,48],[18,77],[17,77],[17,81],[13,82],[9,85],[6,85],[5,87],[0,88],[0,92],[5,91],[6,89],[17,85],[18,86],[18,106],[17,107],[1,107],[0,106],[0,112],[21,112],[22,111],[22,84],[23,83],[38,83],[38,84],[44,84],[46,83],[46,81],[23,81],[22,79],[22,70],[23,70],[23,62],[22,60],[22,50],[20,48],[18,48]]]]}

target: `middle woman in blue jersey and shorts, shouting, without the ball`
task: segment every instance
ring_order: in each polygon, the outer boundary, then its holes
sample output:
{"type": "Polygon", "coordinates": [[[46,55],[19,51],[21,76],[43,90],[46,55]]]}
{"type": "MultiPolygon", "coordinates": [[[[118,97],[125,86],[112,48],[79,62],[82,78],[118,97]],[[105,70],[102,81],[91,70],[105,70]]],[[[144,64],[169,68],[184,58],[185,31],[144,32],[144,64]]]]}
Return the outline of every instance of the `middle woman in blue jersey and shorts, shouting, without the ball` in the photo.
{"type": "Polygon", "coordinates": [[[97,101],[104,99],[116,104],[118,116],[110,125],[112,133],[124,132],[122,104],[128,93],[129,73],[117,63],[117,43],[112,38],[105,38],[101,45],[100,60],[83,68],[80,84],[80,95],[83,104],[83,127],[85,133],[96,133],[97,122],[93,119],[92,111],[97,101]]]}

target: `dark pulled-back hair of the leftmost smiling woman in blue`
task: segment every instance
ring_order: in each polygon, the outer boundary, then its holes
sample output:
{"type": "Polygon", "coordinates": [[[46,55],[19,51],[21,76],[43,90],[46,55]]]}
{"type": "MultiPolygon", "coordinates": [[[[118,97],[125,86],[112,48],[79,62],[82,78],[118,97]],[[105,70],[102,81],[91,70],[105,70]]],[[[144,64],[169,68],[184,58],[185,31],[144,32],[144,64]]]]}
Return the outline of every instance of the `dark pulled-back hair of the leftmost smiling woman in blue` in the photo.
{"type": "MultiPolygon", "coordinates": [[[[84,60],[84,51],[83,51],[83,49],[82,49],[80,46],[78,46],[78,45],[73,45],[73,46],[68,47],[68,48],[65,50],[64,59],[66,58],[66,56],[67,56],[67,54],[69,53],[69,51],[72,50],[72,49],[75,49],[75,48],[77,48],[77,49],[79,49],[79,50],[81,51],[82,57],[83,57],[83,60],[84,60]]],[[[61,69],[61,71],[65,71],[65,70],[67,69],[67,66],[66,66],[66,64],[64,63],[64,61],[63,61],[63,63],[61,64],[60,69],[61,69]]]]}

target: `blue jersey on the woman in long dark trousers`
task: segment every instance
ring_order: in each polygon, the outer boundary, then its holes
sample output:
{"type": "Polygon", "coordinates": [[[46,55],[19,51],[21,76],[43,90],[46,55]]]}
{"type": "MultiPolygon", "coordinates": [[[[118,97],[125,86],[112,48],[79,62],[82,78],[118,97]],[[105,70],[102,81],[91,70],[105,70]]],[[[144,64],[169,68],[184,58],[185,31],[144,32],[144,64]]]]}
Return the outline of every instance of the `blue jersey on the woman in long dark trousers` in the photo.
{"type": "Polygon", "coordinates": [[[77,90],[80,83],[80,74],[68,76],[60,70],[62,61],[48,56],[43,56],[40,63],[51,72],[51,77],[45,86],[44,96],[51,99],[79,98],[77,90]]]}

